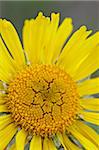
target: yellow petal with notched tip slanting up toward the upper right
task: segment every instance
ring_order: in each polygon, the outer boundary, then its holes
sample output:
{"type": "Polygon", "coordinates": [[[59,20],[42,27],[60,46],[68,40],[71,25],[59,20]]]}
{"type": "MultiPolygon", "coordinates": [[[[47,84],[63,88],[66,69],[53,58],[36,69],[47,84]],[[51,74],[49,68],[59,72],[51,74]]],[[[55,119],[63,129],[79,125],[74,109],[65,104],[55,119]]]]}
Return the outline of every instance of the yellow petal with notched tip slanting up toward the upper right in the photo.
{"type": "Polygon", "coordinates": [[[72,35],[72,37],[67,42],[67,44],[65,45],[65,47],[60,55],[58,64],[60,64],[60,65],[64,64],[64,65],[68,66],[69,65],[69,64],[67,64],[68,61],[70,62],[71,59],[73,59],[75,57],[75,55],[79,54],[78,49],[82,48],[82,45],[84,44],[87,36],[91,33],[91,31],[86,31],[86,29],[87,28],[85,26],[82,26],[82,27],[80,27],[79,30],[77,30],[72,35]],[[77,54],[75,54],[75,52],[77,54]],[[68,56],[69,56],[69,58],[68,58],[68,56]],[[65,57],[66,57],[66,60],[65,60],[65,57]]]}

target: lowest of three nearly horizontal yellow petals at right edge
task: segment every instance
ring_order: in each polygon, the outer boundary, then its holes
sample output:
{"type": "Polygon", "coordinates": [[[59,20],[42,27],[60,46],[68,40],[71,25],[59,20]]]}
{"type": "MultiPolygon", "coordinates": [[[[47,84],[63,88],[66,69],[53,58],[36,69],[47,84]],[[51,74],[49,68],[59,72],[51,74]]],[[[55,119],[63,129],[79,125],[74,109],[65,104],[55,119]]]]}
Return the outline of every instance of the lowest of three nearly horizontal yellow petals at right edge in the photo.
{"type": "Polygon", "coordinates": [[[81,113],[80,117],[85,121],[99,125],[99,113],[85,112],[85,111],[81,111],[80,113],[81,113]]]}

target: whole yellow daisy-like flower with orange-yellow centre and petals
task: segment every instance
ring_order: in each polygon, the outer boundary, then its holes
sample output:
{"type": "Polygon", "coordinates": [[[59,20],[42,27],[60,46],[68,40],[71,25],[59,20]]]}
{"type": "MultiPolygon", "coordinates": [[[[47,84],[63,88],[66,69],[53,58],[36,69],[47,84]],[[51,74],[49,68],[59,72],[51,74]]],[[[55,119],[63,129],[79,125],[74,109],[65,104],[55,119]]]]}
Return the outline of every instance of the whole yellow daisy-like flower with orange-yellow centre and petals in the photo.
{"type": "Polygon", "coordinates": [[[0,150],[98,150],[99,32],[73,35],[72,19],[59,14],[25,21],[23,46],[13,25],[0,20],[0,150]],[[70,38],[69,38],[70,37],[70,38]],[[91,96],[90,96],[91,95],[91,96]]]}

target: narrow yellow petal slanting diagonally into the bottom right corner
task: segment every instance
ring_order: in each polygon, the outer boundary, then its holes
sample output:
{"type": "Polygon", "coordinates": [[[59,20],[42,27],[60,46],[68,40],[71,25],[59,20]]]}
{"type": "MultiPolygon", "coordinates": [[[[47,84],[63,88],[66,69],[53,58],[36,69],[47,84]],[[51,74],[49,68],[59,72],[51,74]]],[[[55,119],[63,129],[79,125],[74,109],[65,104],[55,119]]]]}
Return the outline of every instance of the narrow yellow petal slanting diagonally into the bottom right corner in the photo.
{"type": "Polygon", "coordinates": [[[74,126],[72,126],[69,130],[85,149],[98,150],[97,146],[93,144],[90,139],[87,139],[83,134],[81,134],[74,126]]]}

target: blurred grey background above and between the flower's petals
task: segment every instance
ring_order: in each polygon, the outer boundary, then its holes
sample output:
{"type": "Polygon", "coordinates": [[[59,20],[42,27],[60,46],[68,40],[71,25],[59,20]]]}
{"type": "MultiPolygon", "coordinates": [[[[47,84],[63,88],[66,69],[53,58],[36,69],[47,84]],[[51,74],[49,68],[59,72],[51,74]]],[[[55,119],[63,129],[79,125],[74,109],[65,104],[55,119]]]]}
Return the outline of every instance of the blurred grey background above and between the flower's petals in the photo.
{"type": "MultiPolygon", "coordinates": [[[[93,32],[99,30],[99,1],[0,1],[0,17],[14,24],[20,38],[24,20],[36,17],[39,11],[45,16],[50,16],[51,12],[59,12],[60,22],[65,17],[71,17],[74,31],[81,25],[86,25],[93,32]]],[[[95,76],[99,76],[99,71],[91,77],[95,76]]],[[[99,133],[98,126],[89,125],[99,133]]]]}

